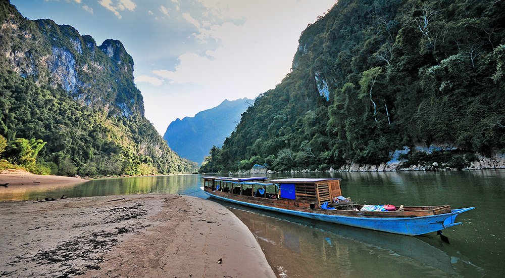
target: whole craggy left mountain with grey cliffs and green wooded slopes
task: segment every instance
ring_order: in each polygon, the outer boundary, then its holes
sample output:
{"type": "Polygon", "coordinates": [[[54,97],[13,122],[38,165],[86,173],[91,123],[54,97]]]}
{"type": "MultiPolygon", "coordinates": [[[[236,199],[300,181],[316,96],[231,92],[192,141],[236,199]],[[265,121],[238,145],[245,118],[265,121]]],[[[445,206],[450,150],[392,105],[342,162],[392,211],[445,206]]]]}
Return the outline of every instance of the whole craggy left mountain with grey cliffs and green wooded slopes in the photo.
{"type": "Polygon", "coordinates": [[[143,113],[133,60],[117,40],[0,3],[0,170],[117,176],[191,173],[143,113]]]}

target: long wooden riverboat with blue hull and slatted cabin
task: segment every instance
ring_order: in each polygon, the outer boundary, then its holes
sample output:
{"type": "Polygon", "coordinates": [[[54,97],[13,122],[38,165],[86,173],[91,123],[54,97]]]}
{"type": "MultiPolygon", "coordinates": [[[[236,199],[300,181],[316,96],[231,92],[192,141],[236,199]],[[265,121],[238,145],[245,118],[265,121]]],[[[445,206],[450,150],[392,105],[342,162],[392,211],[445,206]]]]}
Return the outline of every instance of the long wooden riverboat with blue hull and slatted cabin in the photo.
{"type": "Polygon", "coordinates": [[[354,204],[342,197],[338,178],[204,176],[201,188],[212,198],[337,224],[400,235],[423,235],[461,224],[458,214],[474,209],[450,206],[388,207],[354,204]]]}

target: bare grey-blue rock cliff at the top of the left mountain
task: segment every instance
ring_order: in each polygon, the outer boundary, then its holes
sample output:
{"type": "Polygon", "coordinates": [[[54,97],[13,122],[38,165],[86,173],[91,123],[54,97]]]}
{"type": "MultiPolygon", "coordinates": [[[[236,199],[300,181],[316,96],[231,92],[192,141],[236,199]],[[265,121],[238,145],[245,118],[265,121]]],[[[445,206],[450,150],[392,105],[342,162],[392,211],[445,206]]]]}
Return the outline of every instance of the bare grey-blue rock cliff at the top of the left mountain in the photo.
{"type": "Polygon", "coordinates": [[[89,35],[68,25],[23,18],[13,6],[0,23],[0,60],[23,77],[61,86],[82,105],[113,115],[144,114],[142,95],[133,84],[133,59],[119,40],[99,47],[89,35]],[[101,51],[95,51],[96,49],[101,51]]]}

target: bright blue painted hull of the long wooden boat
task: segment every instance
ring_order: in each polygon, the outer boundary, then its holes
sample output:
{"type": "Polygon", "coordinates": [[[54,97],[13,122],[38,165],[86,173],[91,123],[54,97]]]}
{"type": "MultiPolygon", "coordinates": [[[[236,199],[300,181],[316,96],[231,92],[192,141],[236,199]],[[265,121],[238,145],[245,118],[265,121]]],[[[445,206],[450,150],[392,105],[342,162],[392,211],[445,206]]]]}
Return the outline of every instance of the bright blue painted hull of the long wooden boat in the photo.
{"type": "Polygon", "coordinates": [[[320,221],[326,221],[336,224],[385,231],[387,233],[417,236],[428,234],[433,231],[442,230],[454,225],[461,224],[461,222],[456,223],[456,216],[458,214],[474,209],[474,207],[454,209],[450,213],[439,214],[439,215],[429,215],[420,217],[387,217],[387,218],[368,218],[368,217],[349,217],[341,215],[328,215],[319,213],[310,213],[304,211],[289,210],[283,208],[270,207],[260,204],[248,203],[239,200],[233,200],[229,198],[224,198],[221,196],[213,195],[204,190],[204,192],[212,198],[216,198],[222,201],[239,204],[243,206],[254,207],[258,209],[269,210],[273,212],[280,212],[289,215],[305,217],[320,221]]]}

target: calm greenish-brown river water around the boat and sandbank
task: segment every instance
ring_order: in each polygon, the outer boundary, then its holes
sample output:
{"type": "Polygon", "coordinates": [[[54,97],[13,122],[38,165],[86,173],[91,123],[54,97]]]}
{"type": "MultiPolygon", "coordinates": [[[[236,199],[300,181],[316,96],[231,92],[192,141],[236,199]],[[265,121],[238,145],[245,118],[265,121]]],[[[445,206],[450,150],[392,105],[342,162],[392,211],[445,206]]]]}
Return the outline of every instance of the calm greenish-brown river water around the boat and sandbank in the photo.
{"type": "MultiPolygon", "coordinates": [[[[275,175],[285,177],[287,175],[275,175]]],[[[291,176],[291,175],[289,175],[291,176]]],[[[461,225],[400,236],[227,205],[251,230],[280,277],[505,277],[505,170],[296,174],[341,178],[360,204],[475,207],[461,225]]],[[[0,201],[141,193],[206,198],[201,176],[96,179],[64,188],[0,188],[0,201]]],[[[0,203],[1,205],[1,203],[0,203]]]]}

